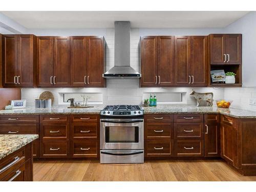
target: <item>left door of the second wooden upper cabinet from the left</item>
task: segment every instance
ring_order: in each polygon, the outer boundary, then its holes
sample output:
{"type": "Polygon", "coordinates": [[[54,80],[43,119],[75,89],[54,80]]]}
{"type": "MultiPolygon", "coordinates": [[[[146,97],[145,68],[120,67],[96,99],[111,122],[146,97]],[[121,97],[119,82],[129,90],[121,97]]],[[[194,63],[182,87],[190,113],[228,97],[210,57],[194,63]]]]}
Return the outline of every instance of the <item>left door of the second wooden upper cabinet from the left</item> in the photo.
{"type": "Polygon", "coordinates": [[[37,86],[53,86],[51,77],[53,77],[53,37],[37,37],[37,86]]]}

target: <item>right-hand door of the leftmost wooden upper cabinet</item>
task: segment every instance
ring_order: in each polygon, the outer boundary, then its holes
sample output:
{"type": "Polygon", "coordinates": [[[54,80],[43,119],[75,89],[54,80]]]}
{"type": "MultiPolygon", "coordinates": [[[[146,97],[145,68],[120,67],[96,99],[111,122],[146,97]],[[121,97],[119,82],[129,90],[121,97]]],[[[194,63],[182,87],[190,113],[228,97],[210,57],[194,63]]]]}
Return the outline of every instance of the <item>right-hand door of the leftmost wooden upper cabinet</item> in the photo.
{"type": "Polygon", "coordinates": [[[34,83],[34,36],[18,35],[18,84],[33,87],[34,83]]]}

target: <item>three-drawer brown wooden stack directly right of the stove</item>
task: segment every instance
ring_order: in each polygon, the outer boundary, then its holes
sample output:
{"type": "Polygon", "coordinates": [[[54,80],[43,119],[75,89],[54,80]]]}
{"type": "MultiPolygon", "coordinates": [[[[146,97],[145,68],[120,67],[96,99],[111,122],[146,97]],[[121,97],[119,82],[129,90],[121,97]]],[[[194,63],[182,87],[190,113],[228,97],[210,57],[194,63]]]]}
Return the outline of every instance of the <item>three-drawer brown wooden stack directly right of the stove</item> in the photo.
{"type": "Polygon", "coordinates": [[[170,157],[174,155],[174,123],[171,114],[144,116],[145,157],[170,157]]]}

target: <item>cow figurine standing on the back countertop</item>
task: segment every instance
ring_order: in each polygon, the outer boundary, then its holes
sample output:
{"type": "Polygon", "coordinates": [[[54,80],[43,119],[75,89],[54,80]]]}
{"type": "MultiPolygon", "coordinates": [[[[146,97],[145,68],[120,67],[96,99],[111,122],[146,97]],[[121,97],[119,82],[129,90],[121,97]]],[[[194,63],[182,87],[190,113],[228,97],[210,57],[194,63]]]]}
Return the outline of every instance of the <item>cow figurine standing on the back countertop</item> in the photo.
{"type": "Polygon", "coordinates": [[[194,90],[189,95],[193,95],[197,100],[197,106],[212,106],[213,93],[197,93],[194,90]]]}

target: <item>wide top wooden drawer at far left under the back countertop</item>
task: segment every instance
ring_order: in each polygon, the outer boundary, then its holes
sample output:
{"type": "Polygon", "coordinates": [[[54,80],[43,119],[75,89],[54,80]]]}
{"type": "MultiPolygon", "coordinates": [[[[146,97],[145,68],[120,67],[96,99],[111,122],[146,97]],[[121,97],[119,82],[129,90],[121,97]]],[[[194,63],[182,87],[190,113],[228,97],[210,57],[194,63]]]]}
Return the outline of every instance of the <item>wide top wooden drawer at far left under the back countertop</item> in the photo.
{"type": "Polygon", "coordinates": [[[39,115],[0,115],[0,123],[38,123],[39,115]]]}

